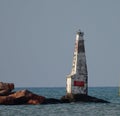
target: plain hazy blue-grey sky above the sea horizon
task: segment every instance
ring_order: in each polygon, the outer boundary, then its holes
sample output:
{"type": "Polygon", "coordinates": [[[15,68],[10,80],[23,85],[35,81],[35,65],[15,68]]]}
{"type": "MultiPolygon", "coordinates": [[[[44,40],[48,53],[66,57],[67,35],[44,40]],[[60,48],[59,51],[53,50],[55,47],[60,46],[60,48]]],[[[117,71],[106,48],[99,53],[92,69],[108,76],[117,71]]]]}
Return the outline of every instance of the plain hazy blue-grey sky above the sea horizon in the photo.
{"type": "Polygon", "coordinates": [[[65,87],[79,29],[88,86],[119,86],[120,0],[0,0],[0,81],[65,87]]]}

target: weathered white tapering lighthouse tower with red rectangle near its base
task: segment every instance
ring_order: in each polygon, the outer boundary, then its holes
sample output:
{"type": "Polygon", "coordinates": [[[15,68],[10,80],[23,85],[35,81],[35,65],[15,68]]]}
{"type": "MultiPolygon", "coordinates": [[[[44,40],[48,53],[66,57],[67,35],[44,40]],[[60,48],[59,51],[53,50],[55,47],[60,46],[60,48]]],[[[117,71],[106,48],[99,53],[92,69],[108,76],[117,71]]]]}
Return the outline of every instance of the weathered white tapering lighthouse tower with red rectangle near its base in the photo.
{"type": "Polygon", "coordinates": [[[67,94],[88,93],[88,73],[84,47],[84,33],[76,33],[75,49],[71,74],[67,76],[67,94]]]}

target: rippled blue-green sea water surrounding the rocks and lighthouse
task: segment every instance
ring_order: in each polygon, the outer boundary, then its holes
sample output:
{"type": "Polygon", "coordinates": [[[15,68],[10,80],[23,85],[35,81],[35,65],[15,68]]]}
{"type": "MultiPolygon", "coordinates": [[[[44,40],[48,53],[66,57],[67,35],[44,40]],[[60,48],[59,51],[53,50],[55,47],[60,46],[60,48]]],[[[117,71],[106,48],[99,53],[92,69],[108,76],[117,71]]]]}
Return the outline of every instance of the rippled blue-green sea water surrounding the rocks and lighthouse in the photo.
{"type": "MultiPolygon", "coordinates": [[[[24,88],[16,88],[21,90],[24,88]]],[[[65,88],[27,88],[46,96],[60,98],[65,88]]],[[[117,87],[89,88],[89,95],[110,101],[106,103],[70,103],[50,105],[0,105],[0,116],[120,116],[120,97],[117,87]]]]}

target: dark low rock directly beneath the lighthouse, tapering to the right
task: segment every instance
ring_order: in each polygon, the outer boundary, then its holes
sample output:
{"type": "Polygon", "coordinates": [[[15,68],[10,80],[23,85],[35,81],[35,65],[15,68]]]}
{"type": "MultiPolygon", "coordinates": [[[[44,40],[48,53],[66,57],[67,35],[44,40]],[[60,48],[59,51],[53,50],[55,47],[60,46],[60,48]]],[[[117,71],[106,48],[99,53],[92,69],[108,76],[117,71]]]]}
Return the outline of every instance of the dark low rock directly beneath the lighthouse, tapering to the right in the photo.
{"type": "Polygon", "coordinates": [[[103,99],[98,99],[85,94],[67,94],[61,98],[63,102],[95,102],[95,103],[110,103],[103,99]]]}

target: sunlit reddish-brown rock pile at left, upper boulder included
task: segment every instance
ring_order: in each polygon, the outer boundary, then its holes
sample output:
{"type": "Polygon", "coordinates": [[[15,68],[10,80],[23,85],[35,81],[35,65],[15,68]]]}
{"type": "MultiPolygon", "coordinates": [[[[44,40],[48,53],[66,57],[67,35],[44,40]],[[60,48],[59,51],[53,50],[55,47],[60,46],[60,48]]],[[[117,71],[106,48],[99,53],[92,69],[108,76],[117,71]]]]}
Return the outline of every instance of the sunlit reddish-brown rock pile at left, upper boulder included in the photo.
{"type": "Polygon", "coordinates": [[[0,104],[20,105],[20,104],[41,104],[45,97],[34,94],[28,90],[12,92],[13,83],[0,82],[0,104]]]}

